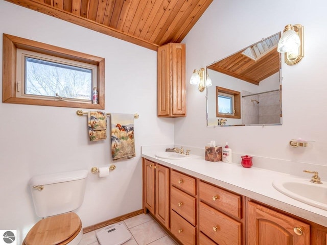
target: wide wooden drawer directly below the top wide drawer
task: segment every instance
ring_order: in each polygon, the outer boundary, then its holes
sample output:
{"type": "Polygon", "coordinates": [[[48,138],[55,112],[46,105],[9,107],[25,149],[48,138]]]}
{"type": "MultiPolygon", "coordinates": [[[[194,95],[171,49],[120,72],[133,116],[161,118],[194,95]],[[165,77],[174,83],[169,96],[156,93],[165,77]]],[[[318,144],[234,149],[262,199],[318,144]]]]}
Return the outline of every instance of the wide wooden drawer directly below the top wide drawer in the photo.
{"type": "Polygon", "coordinates": [[[219,245],[241,245],[242,224],[200,202],[199,227],[219,245]]]}

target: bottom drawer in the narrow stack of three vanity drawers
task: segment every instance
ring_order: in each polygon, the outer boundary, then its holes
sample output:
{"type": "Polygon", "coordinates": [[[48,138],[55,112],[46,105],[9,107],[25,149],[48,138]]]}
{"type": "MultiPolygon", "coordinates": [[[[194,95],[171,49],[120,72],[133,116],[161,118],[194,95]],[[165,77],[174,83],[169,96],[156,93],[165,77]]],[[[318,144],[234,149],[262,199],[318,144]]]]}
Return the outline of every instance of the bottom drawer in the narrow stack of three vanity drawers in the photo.
{"type": "Polygon", "coordinates": [[[173,210],[170,231],[183,245],[195,245],[195,227],[173,210]]]}

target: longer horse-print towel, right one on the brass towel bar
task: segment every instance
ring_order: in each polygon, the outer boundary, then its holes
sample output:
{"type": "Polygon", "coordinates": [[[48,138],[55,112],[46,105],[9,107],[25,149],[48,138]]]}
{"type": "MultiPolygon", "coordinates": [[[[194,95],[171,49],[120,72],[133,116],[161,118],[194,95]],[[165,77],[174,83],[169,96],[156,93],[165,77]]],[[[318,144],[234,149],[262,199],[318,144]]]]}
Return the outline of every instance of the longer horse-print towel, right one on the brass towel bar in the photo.
{"type": "Polygon", "coordinates": [[[134,115],[111,113],[112,160],[135,157],[134,115]]]}

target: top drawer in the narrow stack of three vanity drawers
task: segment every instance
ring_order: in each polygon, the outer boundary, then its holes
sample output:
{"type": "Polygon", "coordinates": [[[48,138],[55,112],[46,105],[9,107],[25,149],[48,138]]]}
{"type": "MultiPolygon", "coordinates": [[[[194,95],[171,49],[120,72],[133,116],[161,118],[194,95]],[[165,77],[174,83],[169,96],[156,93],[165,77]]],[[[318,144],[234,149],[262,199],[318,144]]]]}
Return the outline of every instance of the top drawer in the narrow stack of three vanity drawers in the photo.
{"type": "Polygon", "coordinates": [[[173,186],[181,189],[185,192],[188,192],[191,195],[196,194],[196,185],[195,185],[195,178],[192,178],[187,175],[183,175],[177,171],[171,171],[171,183],[173,186]]]}

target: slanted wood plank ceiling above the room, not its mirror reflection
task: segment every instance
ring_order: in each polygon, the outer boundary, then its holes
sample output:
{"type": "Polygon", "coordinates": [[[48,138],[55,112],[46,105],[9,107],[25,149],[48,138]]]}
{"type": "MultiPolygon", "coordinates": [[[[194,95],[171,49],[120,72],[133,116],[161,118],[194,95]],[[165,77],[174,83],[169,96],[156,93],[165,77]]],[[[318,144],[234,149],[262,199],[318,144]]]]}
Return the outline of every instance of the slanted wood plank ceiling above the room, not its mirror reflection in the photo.
{"type": "Polygon", "coordinates": [[[6,0],[157,50],[181,42],[213,0],[6,0]]]}

